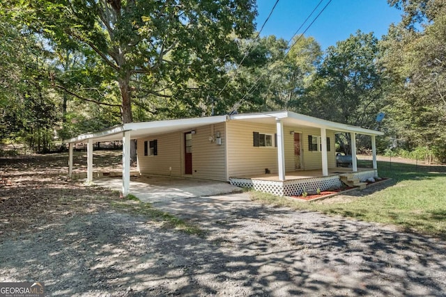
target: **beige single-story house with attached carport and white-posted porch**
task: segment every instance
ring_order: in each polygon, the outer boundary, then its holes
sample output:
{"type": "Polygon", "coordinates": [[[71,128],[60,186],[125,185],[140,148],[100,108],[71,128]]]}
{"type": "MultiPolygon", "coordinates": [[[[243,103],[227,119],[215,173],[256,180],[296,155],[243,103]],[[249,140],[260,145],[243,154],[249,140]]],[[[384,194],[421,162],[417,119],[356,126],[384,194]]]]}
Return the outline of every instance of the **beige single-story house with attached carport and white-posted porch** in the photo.
{"type": "Polygon", "coordinates": [[[292,111],[132,122],[66,140],[87,145],[87,179],[93,180],[93,142],[123,141],[123,194],[130,189],[130,140],[137,141],[141,175],[215,179],[276,195],[339,185],[334,135],[351,134],[353,166],[361,179],[378,176],[375,137],[383,132],[292,111]],[[358,171],[356,135],[371,136],[373,168],[358,171]],[[308,172],[309,174],[303,174],[308,172]],[[311,173],[311,174],[310,174],[311,173]],[[305,180],[304,180],[305,179],[305,180]]]}

